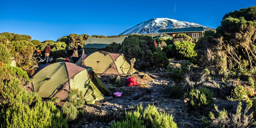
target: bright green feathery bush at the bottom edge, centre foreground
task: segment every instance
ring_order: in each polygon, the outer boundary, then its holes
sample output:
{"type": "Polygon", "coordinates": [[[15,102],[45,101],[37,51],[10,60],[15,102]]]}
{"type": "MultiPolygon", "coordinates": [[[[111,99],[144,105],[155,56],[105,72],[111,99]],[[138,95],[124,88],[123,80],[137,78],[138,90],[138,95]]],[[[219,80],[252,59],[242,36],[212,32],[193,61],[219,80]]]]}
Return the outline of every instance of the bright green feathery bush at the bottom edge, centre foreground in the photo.
{"type": "Polygon", "coordinates": [[[157,111],[154,105],[148,105],[143,112],[143,107],[137,107],[135,112],[126,112],[124,121],[112,124],[110,128],[177,128],[172,115],[157,111]]]}

